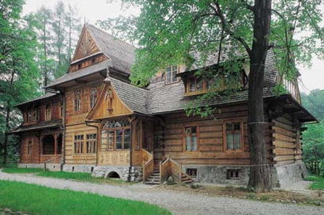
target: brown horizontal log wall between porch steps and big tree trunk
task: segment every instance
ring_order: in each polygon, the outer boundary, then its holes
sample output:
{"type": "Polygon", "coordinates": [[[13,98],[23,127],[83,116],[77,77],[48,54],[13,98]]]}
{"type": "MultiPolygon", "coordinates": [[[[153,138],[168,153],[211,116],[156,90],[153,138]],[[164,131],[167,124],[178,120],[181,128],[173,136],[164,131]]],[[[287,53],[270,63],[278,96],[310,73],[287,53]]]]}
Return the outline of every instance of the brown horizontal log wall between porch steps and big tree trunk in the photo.
{"type": "MultiPolygon", "coordinates": [[[[246,105],[220,107],[215,119],[186,117],[185,113],[164,115],[163,123],[155,123],[155,161],[171,157],[182,164],[250,164],[247,132],[248,110],[246,105]],[[224,123],[242,121],[244,124],[244,144],[239,152],[228,151],[223,144],[224,123]],[[198,150],[185,150],[185,127],[197,126],[198,150]]],[[[268,161],[272,163],[271,132],[266,126],[266,150],[268,161]]]]}

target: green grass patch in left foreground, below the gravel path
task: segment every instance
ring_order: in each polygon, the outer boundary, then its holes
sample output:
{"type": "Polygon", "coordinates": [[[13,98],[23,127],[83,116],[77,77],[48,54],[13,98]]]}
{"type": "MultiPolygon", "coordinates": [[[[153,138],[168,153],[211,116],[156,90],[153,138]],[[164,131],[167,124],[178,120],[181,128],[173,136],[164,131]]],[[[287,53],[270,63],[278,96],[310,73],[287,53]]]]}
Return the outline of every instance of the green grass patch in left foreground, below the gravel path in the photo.
{"type": "Polygon", "coordinates": [[[134,200],[0,180],[0,207],[32,214],[171,214],[134,200]]]}

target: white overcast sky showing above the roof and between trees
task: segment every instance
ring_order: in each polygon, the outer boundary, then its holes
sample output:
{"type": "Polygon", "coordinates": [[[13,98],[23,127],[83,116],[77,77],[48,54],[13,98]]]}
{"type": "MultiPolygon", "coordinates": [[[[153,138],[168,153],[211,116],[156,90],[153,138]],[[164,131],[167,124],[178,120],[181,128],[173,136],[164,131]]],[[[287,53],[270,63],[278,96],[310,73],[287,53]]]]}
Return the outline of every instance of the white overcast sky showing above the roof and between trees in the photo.
{"type": "MultiPolygon", "coordinates": [[[[26,0],[24,6],[24,14],[37,11],[41,6],[46,8],[54,8],[59,0],[26,0]]],[[[71,4],[74,8],[78,9],[78,14],[81,19],[89,24],[95,24],[97,20],[104,20],[108,17],[114,18],[123,15],[125,12],[128,14],[137,15],[139,10],[130,8],[127,11],[121,10],[121,3],[116,1],[108,3],[109,0],[64,0],[65,4],[71,4]]],[[[322,14],[324,17],[324,5],[322,7],[322,14]]],[[[298,65],[298,69],[302,76],[300,77],[301,83],[299,85],[300,91],[309,93],[312,89],[324,89],[324,60],[319,60],[314,57],[312,60],[312,67],[302,67],[298,65]]]]}

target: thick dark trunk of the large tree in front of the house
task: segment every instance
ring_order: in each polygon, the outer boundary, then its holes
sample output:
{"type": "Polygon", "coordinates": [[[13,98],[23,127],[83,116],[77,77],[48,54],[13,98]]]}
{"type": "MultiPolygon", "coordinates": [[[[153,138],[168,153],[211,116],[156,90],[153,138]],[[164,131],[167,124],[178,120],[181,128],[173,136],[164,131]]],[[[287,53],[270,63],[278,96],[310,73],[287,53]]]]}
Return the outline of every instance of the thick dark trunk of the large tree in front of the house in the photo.
{"type": "Polygon", "coordinates": [[[266,159],[264,139],[264,62],[268,51],[271,24],[271,0],[255,0],[254,40],[250,52],[250,80],[248,88],[248,144],[250,146],[250,180],[248,187],[255,191],[269,191],[271,167],[266,159]]]}

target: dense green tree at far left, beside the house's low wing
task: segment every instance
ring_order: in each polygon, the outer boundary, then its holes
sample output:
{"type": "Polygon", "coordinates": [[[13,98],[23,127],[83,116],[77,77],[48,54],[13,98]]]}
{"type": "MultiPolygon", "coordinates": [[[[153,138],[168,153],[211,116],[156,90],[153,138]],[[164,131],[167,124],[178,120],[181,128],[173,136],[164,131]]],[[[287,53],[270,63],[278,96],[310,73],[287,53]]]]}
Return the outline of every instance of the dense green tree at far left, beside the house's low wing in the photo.
{"type": "Polygon", "coordinates": [[[8,132],[19,124],[13,106],[37,94],[39,71],[35,65],[35,33],[21,17],[24,1],[1,1],[0,16],[0,107],[1,154],[3,164],[8,145],[17,144],[8,132]]]}

